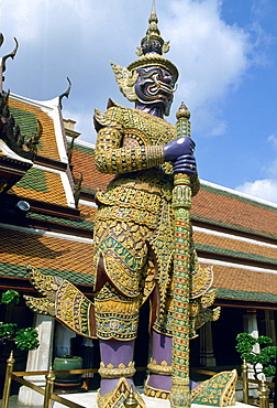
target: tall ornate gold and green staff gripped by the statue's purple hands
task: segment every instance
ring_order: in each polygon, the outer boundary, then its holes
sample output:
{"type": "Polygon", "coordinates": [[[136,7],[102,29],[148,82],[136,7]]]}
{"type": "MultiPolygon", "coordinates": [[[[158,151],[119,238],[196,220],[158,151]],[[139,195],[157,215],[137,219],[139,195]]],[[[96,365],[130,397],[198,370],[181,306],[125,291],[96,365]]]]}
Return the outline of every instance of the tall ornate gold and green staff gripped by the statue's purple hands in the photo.
{"type": "MultiPolygon", "coordinates": [[[[190,137],[190,112],[182,103],[176,114],[177,138],[190,137]]],[[[174,176],[173,208],[175,214],[174,256],[174,336],[173,336],[173,408],[190,407],[189,390],[189,271],[191,189],[189,175],[174,176]]]]}

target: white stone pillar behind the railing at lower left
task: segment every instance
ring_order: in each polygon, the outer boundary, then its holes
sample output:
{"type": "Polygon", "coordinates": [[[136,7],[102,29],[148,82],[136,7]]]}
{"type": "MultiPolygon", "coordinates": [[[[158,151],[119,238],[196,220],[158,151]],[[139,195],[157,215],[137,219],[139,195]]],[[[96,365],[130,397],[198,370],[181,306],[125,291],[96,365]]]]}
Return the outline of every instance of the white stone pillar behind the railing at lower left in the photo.
{"type": "MultiPolygon", "coordinates": [[[[55,321],[44,314],[35,314],[34,328],[38,332],[40,346],[29,352],[26,372],[47,371],[52,364],[53,334],[55,321]]],[[[45,386],[45,376],[37,375],[25,377],[26,380],[37,385],[45,386]]],[[[27,407],[43,406],[43,396],[26,386],[20,388],[18,401],[27,407]]]]}

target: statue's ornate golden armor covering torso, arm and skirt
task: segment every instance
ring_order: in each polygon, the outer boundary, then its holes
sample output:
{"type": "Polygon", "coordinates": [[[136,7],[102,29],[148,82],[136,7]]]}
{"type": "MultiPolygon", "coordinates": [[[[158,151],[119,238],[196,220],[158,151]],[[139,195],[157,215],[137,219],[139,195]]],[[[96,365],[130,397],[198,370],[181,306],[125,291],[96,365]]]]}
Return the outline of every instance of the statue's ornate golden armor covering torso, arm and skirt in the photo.
{"type": "MultiPolygon", "coordinates": [[[[95,122],[96,165],[117,174],[106,192],[97,193],[98,336],[134,339],[138,309],[154,292],[155,330],[170,334],[173,168],[164,162],[163,146],[176,138],[176,129],[162,118],[113,101],[103,116],[96,112],[95,122]]],[[[191,182],[196,194],[198,178],[191,182]]]]}

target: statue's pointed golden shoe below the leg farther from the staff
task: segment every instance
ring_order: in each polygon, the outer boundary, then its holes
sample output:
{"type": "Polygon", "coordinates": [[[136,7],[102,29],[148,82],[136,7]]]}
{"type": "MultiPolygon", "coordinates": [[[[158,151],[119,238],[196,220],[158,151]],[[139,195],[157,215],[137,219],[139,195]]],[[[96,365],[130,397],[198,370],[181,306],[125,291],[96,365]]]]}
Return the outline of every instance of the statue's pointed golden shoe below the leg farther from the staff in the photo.
{"type": "Polygon", "coordinates": [[[137,408],[146,408],[141,395],[132,386],[133,382],[129,378],[111,378],[109,385],[101,386],[97,395],[97,405],[99,408],[125,408],[129,399],[135,400],[137,408]],[[131,384],[129,384],[131,382],[131,384]],[[114,385],[115,384],[115,385],[114,385]],[[106,389],[114,387],[104,394],[106,389]]]}

